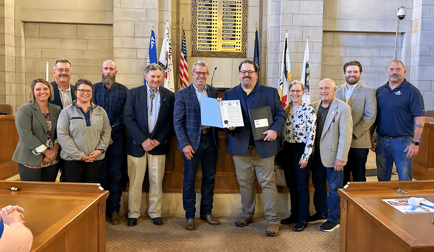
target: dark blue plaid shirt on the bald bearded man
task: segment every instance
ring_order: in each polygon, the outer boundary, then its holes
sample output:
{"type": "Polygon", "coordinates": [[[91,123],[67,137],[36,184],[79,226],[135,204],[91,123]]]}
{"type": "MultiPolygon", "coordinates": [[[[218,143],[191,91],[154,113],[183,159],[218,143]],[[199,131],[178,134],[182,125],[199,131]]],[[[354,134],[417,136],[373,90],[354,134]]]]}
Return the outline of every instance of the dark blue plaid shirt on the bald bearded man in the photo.
{"type": "Polygon", "coordinates": [[[121,83],[115,82],[110,89],[102,82],[93,84],[92,100],[107,112],[112,128],[125,126],[124,107],[127,93],[128,88],[121,83]]]}

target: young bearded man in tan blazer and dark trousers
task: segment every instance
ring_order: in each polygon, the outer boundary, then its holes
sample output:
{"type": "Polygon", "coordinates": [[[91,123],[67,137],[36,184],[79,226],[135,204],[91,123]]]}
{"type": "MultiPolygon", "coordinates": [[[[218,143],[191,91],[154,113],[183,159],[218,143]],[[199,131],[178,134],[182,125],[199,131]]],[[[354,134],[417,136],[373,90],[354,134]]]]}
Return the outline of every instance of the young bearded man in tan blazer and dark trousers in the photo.
{"type": "Polygon", "coordinates": [[[351,60],[344,64],[345,84],[336,87],[336,98],[344,101],[351,107],[353,121],[352,140],[348,152],[348,162],[344,166],[344,182],[366,181],[366,160],[371,137],[369,128],[375,122],[377,115],[377,99],[375,89],[359,83],[362,65],[357,60],[351,60]]]}

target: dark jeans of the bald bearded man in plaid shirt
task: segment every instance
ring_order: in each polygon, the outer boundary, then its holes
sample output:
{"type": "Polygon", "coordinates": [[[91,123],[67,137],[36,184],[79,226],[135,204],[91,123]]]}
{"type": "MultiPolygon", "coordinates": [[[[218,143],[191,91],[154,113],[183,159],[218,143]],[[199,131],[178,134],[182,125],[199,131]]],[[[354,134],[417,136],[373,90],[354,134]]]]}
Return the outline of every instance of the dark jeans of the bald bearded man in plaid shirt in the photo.
{"type": "Polygon", "coordinates": [[[123,129],[112,129],[113,143],[107,147],[104,159],[102,159],[99,170],[99,183],[102,188],[109,190],[110,194],[106,200],[106,212],[119,212],[121,205],[122,189],[121,176],[122,164],[125,156],[125,135],[123,129]]]}

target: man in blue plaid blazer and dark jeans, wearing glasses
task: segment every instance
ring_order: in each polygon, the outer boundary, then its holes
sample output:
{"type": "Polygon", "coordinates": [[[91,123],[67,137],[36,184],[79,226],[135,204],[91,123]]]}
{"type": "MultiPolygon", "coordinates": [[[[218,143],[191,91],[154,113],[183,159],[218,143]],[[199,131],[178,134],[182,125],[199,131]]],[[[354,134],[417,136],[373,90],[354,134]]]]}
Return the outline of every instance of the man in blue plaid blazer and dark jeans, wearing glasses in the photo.
{"type": "Polygon", "coordinates": [[[195,182],[199,162],[202,162],[202,189],[200,217],[211,225],[218,225],[211,215],[214,196],[214,177],[217,166],[217,130],[201,125],[201,97],[217,98],[217,88],[205,84],[209,75],[208,64],[198,61],[193,64],[194,82],[176,92],[174,127],[178,149],[184,153],[184,180],[182,202],[185,210],[185,228],[193,230],[196,214],[195,182]]]}

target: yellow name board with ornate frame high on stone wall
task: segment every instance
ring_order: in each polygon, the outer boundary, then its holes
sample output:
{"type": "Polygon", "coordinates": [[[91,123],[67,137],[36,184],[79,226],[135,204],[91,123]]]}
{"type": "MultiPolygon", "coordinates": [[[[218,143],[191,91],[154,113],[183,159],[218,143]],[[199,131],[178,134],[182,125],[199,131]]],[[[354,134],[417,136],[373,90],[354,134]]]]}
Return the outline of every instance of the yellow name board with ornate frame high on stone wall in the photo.
{"type": "Polygon", "coordinates": [[[247,57],[248,0],[192,0],[191,56],[247,57]]]}

